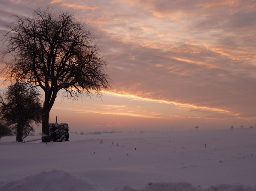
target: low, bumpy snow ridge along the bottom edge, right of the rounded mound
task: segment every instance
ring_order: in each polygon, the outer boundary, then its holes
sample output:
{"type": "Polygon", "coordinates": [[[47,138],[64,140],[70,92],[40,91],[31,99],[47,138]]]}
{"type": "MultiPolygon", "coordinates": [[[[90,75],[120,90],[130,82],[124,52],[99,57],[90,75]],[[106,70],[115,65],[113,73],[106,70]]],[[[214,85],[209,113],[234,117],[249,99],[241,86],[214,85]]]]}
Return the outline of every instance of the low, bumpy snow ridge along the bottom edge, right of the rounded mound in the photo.
{"type": "Polygon", "coordinates": [[[256,191],[256,188],[251,188],[242,184],[218,184],[209,186],[208,188],[194,187],[187,182],[169,183],[155,182],[148,183],[141,188],[132,188],[130,186],[118,186],[115,191],[256,191]]]}

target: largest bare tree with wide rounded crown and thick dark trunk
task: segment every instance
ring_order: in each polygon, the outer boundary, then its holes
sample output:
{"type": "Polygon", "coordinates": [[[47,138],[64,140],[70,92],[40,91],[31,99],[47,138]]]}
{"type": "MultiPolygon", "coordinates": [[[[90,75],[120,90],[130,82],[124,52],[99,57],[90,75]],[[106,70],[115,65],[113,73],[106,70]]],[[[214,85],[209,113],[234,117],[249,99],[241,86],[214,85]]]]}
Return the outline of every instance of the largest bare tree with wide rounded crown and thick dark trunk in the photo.
{"type": "Polygon", "coordinates": [[[49,8],[35,9],[32,16],[14,15],[7,28],[5,56],[13,61],[2,70],[6,79],[26,80],[45,92],[42,109],[42,141],[49,142],[49,113],[60,90],[62,96],[76,100],[82,96],[102,96],[110,88],[107,63],[99,55],[87,25],[73,14],[53,14],[49,8]]]}

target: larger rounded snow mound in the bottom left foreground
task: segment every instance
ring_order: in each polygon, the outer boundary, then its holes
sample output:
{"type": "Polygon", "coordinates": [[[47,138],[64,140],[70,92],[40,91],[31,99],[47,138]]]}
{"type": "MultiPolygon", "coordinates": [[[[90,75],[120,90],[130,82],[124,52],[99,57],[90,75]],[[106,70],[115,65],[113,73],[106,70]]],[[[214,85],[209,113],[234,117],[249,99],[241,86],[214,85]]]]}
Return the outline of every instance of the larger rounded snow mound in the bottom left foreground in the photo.
{"type": "Polygon", "coordinates": [[[88,179],[69,172],[52,170],[27,176],[20,181],[0,184],[0,191],[99,191],[99,186],[88,179]]]}

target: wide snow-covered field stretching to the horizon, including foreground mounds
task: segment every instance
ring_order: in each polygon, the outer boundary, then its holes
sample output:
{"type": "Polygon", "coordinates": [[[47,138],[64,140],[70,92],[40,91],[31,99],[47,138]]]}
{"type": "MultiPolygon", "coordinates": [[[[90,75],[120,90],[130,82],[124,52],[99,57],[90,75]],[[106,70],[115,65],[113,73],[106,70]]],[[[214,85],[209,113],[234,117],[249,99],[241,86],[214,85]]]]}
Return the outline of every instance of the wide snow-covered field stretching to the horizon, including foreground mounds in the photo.
{"type": "Polygon", "coordinates": [[[0,141],[0,191],[256,191],[256,128],[14,140],[0,141]]]}

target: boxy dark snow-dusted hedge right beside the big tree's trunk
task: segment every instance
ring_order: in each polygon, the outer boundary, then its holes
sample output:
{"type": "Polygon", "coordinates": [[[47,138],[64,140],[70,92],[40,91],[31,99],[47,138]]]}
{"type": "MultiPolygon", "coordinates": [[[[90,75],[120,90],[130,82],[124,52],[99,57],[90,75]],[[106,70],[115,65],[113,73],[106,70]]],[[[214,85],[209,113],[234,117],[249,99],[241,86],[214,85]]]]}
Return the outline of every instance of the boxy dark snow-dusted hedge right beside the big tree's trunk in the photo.
{"type": "Polygon", "coordinates": [[[68,124],[67,123],[49,123],[49,131],[53,142],[68,141],[68,124]]]}

